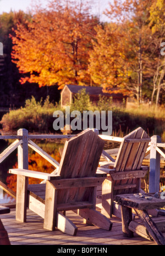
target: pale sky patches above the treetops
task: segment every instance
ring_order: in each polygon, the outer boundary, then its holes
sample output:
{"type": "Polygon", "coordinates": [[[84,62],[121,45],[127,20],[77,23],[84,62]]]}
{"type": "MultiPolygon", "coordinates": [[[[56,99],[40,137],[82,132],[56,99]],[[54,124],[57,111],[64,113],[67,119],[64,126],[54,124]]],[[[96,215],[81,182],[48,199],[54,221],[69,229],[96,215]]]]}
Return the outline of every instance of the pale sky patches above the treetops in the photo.
{"type": "MultiPolygon", "coordinates": [[[[19,11],[20,9],[24,12],[28,12],[31,8],[31,4],[34,3],[34,0],[0,0],[0,14],[3,12],[19,11]]],[[[40,0],[43,7],[46,7],[47,0],[40,0]]],[[[93,8],[92,12],[100,16],[101,21],[106,21],[106,15],[102,14],[103,11],[108,7],[108,2],[112,0],[94,0],[92,1],[93,8]]]]}

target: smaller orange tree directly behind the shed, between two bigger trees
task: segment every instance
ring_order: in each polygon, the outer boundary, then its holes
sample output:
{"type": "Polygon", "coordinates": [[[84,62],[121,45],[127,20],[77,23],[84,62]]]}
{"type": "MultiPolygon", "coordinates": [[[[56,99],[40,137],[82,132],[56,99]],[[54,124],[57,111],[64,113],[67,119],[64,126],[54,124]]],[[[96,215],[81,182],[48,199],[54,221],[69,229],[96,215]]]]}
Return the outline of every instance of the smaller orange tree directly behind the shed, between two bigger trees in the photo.
{"type": "Polygon", "coordinates": [[[120,33],[120,26],[115,23],[98,25],[96,32],[95,40],[92,40],[94,49],[90,53],[91,79],[95,86],[101,85],[105,91],[115,88],[116,92],[124,92],[129,81],[125,39],[120,33]]]}

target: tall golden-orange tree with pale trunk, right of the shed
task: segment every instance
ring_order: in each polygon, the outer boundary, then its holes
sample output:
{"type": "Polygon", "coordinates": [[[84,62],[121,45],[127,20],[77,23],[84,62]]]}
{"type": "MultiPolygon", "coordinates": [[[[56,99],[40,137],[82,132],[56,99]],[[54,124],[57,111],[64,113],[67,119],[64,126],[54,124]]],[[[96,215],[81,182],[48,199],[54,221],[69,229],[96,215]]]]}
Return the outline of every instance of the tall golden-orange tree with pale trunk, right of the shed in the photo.
{"type": "MultiPolygon", "coordinates": [[[[151,35],[147,9],[150,5],[149,1],[144,0],[125,0],[122,3],[120,0],[114,0],[114,3],[109,3],[106,12],[113,23],[108,28],[109,35],[105,40],[103,51],[107,58],[108,54],[111,55],[107,62],[107,76],[109,74],[111,77],[113,74],[115,77],[111,85],[108,82],[106,87],[111,88],[114,85],[129,87],[139,103],[142,102],[143,76],[147,75],[145,73],[147,73],[147,61],[149,60],[145,53],[151,35]],[[116,27],[118,29],[115,30],[116,27]],[[107,44],[109,50],[106,50],[107,44]]],[[[99,45],[100,41],[97,43],[99,45]]],[[[103,46],[101,48],[103,49],[103,46]]],[[[96,76],[98,73],[96,72],[96,76]]]]}

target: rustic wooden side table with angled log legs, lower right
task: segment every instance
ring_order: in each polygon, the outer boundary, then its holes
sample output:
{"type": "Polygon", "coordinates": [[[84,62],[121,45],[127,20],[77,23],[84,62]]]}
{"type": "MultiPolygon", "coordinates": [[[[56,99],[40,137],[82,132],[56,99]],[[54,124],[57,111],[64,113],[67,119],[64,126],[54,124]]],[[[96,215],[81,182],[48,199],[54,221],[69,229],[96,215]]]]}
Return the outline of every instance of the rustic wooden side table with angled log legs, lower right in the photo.
{"type": "MultiPolygon", "coordinates": [[[[145,196],[151,196],[151,194],[145,194],[145,196]]],[[[124,236],[133,237],[133,232],[129,229],[129,223],[132,221],[132,209],[134,209],[156,244],[165,245],[163,234],[158,230],[156,224],[147,213],[149,209],[164,207],[165,200],[153,196],[152,200],[147,200],[146,198],[137,198],[133,194],[126,194],[117,195],[115,201],[121,205],[124,236]]]]}

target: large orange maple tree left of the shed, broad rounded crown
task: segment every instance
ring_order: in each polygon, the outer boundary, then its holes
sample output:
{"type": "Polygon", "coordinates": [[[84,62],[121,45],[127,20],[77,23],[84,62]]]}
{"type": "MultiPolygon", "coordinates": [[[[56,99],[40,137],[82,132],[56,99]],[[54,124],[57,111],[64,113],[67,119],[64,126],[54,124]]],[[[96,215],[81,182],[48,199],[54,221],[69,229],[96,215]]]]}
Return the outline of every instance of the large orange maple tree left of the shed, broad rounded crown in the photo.
{"type": "Polygon", "coordinates": [[[47,9],[37,8],[32,21],[18,25],[12,36],[21,83],[89,84],[87,64],[97,23],[82,1],[54,0],[47,9]]]}

